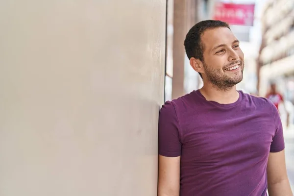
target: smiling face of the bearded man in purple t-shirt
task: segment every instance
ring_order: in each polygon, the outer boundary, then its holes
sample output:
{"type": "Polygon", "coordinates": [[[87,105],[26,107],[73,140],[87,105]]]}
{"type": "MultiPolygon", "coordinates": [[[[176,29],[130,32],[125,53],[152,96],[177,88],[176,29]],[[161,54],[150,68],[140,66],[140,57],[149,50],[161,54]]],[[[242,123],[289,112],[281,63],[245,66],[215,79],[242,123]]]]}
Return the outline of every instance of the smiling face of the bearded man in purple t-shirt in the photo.
{"type": "Polygon", "coordinates": [[[201,43],[204,46],[203,77],[223,90],[242,81],[244,53],[230,29],[208,29],[203,33],[201,43]]]}

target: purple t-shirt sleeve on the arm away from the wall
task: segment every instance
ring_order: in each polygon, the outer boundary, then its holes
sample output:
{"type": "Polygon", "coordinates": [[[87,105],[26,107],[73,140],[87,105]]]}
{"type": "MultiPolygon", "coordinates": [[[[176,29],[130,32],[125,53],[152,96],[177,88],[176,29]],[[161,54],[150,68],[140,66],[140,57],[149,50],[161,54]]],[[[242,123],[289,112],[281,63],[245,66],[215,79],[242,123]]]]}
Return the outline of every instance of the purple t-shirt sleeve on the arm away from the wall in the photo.
{"type": "Polygon", "coordinates": [[[275,134],[270,145],[270,152],[279,152],[285,148],[283,126],[277,108],[272,103],[271,107],[273,111],[273,120],[275,123],[275,134]]]}

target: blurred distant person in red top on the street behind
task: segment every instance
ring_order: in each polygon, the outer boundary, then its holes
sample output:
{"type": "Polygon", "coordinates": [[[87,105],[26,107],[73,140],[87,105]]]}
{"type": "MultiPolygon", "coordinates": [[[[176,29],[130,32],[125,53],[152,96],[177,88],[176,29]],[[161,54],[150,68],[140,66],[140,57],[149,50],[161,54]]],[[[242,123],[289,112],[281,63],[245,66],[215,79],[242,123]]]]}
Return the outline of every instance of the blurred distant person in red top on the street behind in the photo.
{"type": "Polygon", "coordinates": [[[270,101],[275,105],[279,113],[281,113],[279,106],[283,104],[284,111],[287,115],[286,125],[289,126],[289,112],[287,111],[287,108],[285,107],[284,98],[283,96],[277,92],[276,90],[276,84],[274,82],[270,83],[270,90],[268,94],[266,95],[266,98],[270,99],[270,101]]]}

